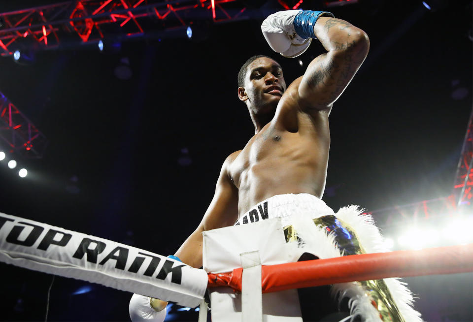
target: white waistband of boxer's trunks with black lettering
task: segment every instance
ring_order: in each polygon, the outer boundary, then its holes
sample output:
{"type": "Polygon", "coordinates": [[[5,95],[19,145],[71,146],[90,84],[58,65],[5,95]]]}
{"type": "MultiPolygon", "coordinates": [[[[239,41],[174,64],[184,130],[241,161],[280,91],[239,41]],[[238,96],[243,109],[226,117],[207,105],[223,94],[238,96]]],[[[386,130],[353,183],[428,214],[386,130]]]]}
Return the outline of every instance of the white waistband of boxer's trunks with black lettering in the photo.
{"type": "Polygon", "coordinates": [[[294,215],[308,215],[311,218],[317,218],[333,214],[332,208],[315,195],[309,193],[277,194],[251,207],[238,218],[235,225],[281,217],[282,224],[285,226],[290,224],[291,217],[294,215]]]}

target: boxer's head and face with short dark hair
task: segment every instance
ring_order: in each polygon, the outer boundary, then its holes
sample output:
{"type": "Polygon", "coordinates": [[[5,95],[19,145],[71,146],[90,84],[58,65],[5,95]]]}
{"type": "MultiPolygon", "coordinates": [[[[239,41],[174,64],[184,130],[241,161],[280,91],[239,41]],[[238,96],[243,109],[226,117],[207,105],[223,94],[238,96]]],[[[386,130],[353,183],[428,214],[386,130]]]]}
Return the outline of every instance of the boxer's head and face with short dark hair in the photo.
{"type": "Polygon", "coordinates": [[[274,60],[261,57],[248,65],[245,87],[238,88],[238,96],[249,103],[255,112],[275,108],[286,91],[281,66],[274,60]]]}

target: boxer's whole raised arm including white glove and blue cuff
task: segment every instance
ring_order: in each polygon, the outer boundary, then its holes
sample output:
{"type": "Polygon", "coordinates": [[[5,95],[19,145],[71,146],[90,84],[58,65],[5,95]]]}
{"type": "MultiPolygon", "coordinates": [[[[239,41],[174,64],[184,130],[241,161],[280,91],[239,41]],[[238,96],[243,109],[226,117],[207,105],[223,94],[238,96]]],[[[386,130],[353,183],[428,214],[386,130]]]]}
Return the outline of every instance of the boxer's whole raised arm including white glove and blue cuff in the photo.
{"type": "Polygon", "coordinates": [[[298,105],[305,111],[330,110],[370,48],[363,30],[326,11],[279,11],[265,19],[261,28],[270,47],[284,57],[301,55],[311,39],[318,39],[327,50],[293,82],[297,84],[298,105]]]}

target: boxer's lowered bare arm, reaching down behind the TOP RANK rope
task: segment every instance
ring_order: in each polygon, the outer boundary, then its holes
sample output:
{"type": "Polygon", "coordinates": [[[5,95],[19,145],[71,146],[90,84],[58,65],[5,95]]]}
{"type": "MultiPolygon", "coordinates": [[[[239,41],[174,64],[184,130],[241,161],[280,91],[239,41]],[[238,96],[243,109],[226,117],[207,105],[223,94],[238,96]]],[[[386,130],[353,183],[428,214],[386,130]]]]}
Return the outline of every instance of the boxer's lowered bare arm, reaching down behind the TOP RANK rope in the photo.
{"type": "Polygon", "coordinates": [[[197,229],[186,239],[177,250],[175,256],[184,263],[202,267],[202,232],[215,228],[231,226],[238,218],[238,190],[230,180],[228,167],[238,152],[231,154],[223,163],[210,205],[197,229]]]}

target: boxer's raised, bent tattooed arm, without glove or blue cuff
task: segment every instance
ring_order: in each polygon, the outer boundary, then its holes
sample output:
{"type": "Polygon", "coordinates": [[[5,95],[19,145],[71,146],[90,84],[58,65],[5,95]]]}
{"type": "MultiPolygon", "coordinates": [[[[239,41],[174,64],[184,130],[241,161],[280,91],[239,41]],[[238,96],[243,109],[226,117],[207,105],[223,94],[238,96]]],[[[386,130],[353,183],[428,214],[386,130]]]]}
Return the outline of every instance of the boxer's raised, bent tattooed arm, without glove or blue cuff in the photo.
{"type": "Polygon", "coordinates": [[[300,105],[330,110],[368,55],[370,40],[363,30],[331,17],[319,17],[314,34],[327,53],[316,57],[297,81],[300,105]]]}

